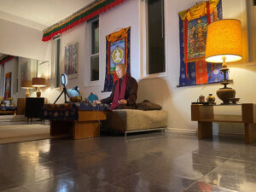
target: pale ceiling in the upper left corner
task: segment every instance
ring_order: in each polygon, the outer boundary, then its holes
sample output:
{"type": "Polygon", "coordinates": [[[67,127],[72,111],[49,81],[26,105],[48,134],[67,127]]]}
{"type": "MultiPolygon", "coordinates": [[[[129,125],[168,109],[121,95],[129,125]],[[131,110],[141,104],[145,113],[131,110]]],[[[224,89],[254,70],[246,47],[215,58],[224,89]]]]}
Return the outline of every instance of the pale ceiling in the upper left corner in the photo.
{"type": "Polygon", "coordinates": [[[43,30],[94,0],[0,0],[0,19],[43,30]]]}

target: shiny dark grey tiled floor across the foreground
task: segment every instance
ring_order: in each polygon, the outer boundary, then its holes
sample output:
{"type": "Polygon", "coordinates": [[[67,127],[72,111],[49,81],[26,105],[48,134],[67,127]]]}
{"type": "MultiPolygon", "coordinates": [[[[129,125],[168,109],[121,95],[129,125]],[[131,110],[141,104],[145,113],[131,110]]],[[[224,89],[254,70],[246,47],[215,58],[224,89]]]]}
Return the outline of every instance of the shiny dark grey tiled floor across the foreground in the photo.
{"type": "Polygon", "coordinates": [[[256,191],[256,144],[151,132],[0,145],[0,191],[256,191]]]}

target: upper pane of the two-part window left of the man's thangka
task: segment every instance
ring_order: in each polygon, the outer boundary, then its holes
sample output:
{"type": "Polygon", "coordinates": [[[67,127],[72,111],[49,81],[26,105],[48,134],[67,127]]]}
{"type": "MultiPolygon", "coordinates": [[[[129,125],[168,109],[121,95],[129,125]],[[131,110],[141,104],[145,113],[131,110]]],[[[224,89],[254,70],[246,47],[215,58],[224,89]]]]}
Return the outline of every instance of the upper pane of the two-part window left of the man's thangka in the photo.
{"type": "Polygon", "coordinates": [[[91,55],[99,52],[99,20],[91,23],[91,55]]]}

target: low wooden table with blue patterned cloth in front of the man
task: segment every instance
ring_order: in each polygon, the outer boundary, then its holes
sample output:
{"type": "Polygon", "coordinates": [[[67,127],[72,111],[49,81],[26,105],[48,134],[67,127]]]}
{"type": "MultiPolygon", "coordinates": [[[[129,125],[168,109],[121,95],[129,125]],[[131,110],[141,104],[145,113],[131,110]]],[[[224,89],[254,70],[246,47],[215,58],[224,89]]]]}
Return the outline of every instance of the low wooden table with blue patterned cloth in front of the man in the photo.
{"type": "Polygon", "coordinates": [[[50,135],[72,134],[73,139],[100,136],[100,120],[107,119],[108,105],[90,103],[48,104],[43,119],[50,120],[50,135]]]}

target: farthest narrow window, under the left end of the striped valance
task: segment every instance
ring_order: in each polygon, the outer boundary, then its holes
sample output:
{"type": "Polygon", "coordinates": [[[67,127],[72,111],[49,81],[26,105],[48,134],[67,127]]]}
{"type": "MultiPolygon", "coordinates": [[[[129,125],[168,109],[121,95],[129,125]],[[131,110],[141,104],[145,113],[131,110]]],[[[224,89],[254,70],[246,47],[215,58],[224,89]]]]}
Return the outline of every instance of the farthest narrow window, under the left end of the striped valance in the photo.
{"type": "Polygon", "coordinates": [[[60,87],[61,81],[61,36],[53,38],[52,87],[60,87]]]}

